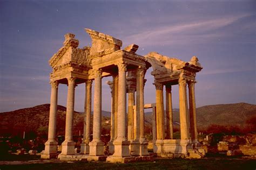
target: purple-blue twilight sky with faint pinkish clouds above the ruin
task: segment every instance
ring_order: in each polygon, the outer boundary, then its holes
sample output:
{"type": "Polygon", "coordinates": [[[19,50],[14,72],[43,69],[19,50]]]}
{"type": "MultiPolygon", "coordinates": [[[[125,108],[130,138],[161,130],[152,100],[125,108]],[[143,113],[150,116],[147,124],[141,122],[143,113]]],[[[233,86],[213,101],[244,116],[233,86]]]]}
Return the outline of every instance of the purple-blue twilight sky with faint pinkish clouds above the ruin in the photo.
{"type": "MultiPolygon", "coordinates": [[[[50,103],[48,60],[64,34],[90,45],[85,28],[204,67],[197,74],[197,107],[256,104],[256,1],[0,1],[0,112],[50,103]]],[[[155,103],[152,68],[146,73],[145,103],[155,103]]],[[[103,110],[110,89],[103,81],[103,110]]],[[[59,85],[58,104],[68,87],[59,85]]],[[[178,108],[178,86],[173,87],[178,108]]],[[[84,109],[85,86],[76,87],[75,110],[84,109]]],[[[92,96],[93,97],[93,96],[92,96]]],[[[93,100],[92,100],[93,101],[93,100]]]]}

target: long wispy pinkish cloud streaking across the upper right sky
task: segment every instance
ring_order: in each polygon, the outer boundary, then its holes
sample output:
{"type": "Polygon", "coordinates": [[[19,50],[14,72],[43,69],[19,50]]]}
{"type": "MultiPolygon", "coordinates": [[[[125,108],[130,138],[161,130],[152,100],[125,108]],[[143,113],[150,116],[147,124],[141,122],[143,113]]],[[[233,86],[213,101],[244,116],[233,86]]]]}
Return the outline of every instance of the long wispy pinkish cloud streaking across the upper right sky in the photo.
{"type": "Polygon", "coordinates": [[[125,37],[125,41],[136,42],[145,45],[177,44],[188,40],[214,38],[224,36],[224,34],[214,32],[214,30],[230,25],[237,20],[248,17],[244,14],[240,16],[229,16],[210,20],[198,20],[185,24],[159,25],[152,30],[142,30],[140,33],[125,37]]]}

